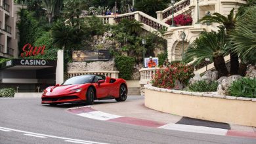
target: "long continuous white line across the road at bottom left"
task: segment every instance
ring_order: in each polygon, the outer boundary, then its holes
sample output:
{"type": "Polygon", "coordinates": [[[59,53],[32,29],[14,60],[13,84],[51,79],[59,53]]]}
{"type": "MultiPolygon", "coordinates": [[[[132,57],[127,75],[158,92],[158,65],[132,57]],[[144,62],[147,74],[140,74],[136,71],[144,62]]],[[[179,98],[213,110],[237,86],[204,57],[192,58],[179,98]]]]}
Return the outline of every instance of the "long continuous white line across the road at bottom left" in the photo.
{"type": "Polygon", "coordinates": [[[35,132],[26,132],[26,131],[23,131],[23,130],[16,130],[16,129],[12,129],[12,128],[1,127],[1,126],[0,126],[0,129],[10,130],[10,131],[14,131],[14,132],[21,132],[21,133],[24,133],[24,134],[41,135],[41,136],[44,136],[44,137],[52,137],[52,138],[56,138],[56,139],[64,139],[64,140],[70,140],[70,141],[80,141],[80,142],[83,142],[83,143],[108,144],[108,143],[98,143],[98,142],[95,142],[95,141],[84,141],[84,140],[81,140],[81,139],[72,139],[72,138],[68,138],[68,137],[58,137],[58,136],[54,136],[54,135],[39,134],[39,133],[35,133],[35,132]]]}

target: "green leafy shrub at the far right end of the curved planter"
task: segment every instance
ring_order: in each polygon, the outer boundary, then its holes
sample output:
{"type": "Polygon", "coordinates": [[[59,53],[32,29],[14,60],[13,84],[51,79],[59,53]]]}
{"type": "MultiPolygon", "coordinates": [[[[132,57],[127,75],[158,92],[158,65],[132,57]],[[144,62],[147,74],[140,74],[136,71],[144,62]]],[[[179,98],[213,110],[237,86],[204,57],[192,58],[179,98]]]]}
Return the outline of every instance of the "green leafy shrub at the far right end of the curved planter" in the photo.
{"type": "Polygon", "coordinates": [[[242,96],[245,98],[256,98],[256,78],[242,78],[232,82],[228,88],[230,96],[242,96]]]}

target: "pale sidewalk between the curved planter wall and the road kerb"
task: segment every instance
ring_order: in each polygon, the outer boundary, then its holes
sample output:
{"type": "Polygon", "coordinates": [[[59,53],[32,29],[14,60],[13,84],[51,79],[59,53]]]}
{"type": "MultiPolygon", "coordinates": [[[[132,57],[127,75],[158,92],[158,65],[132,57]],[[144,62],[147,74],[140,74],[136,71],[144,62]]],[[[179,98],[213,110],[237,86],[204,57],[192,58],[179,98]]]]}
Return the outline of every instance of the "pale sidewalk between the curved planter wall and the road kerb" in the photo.
{"type": "Polygon", "coordinates": [[[243,132],[256,132],[256,128],[250,126],[240,126],[236,124],[225,124],[222,122],[211,122],[207,120],[198,120],[194,118],[181,117],[178,115],[171,115],[155,111],[144,106],[143,96],[129,96],[132,98],[140,97],[141,99],[127,99],[125,102],[102,102],[95,101],[95,105],[91,107],[96,111],[110,113],[112,115],[120,115],[123,117],[140,118],[144,120],[152,120],[156,122],[163,122],[167,124],[185,124],[193,126],[207,126],[210,128],[222,128],[226,130],[235,130],[243,132]],[[111,103],[111,104],[110,104],[111,103]]]}

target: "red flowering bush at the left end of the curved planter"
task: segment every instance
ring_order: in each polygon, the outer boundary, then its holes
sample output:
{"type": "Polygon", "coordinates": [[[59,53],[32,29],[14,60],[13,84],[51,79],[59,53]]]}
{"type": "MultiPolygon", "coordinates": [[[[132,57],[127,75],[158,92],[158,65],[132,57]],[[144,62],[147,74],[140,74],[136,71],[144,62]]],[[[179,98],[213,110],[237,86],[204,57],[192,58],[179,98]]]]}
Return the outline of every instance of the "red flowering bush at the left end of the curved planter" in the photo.
{"type": "Polygon", "coordinates": [[[158,88],[175,88],[175,81],[188,84],[190,78],[194,77],[194,69],[182,63],[173,63],[169,67],[160,67],[156,70],[151,83],[158,88]]]}

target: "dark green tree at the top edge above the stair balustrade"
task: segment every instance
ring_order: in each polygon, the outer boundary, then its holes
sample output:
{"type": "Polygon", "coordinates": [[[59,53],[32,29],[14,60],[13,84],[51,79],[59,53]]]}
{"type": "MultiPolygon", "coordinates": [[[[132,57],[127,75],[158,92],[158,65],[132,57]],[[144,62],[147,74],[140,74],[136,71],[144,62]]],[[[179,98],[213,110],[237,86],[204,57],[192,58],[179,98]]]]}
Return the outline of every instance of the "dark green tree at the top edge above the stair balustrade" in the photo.
{"type": "Polygon", "coordinates": [[[137,2],[135,8],[156,18],[156,11],[166,9],[170,2],[167,0],[143,0],[137,2]]]}

